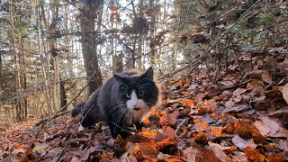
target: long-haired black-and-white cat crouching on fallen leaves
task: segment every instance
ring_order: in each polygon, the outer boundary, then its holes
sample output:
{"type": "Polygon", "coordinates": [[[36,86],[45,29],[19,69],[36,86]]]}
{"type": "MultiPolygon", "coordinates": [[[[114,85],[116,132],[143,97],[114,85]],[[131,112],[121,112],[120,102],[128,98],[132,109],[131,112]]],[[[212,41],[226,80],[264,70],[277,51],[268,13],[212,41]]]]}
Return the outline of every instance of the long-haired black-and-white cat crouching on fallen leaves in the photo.
{"type": "Polygon", "coordinates": [[[126,138],[131,133],[125,128],[133,124],[141,128],[150,109],[159,102],[160,88],[152,67],[144,73],[132,69],[110,77],[87,101],[76,105],[71,115],[76,117],[81,112],[81,119],[85,117],[78,130],[106,121],[113,139],[118,134],[126,138]]]}

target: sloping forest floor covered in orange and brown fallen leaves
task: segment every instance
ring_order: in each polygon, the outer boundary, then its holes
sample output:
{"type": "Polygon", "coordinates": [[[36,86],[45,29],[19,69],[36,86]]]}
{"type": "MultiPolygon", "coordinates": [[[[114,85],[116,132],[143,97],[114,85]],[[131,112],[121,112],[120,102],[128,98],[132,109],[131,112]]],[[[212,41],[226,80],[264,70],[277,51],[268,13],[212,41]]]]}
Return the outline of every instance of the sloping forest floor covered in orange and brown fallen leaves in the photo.
{"type": "Polygon", "coordinates": [[[214,70],[166,82],[162,106],[127,139],[103,123],[67,144],[78,123],[68,115],[17,122],[0,132],[0,160],[52,161],[67,145],[62,161],[287,161],[287,72],[285,55],[243,55],[217,84],[214,70]]]}

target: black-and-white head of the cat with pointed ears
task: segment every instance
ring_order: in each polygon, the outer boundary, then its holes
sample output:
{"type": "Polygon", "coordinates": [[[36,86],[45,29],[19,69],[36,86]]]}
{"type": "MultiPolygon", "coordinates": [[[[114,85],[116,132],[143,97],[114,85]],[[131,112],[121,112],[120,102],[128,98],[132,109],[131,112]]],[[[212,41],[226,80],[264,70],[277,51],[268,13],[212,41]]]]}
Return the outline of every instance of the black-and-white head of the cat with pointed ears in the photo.
{"type": "Polygon", "coordinates": [[[114,75],[119,83],[121,101],[127,104],[130,112],[147,112],[156,105],[159,98],[159,89],[156,85],[153,69],[148,69],[143,74],[135,72],[123,76],[114,75]]]}

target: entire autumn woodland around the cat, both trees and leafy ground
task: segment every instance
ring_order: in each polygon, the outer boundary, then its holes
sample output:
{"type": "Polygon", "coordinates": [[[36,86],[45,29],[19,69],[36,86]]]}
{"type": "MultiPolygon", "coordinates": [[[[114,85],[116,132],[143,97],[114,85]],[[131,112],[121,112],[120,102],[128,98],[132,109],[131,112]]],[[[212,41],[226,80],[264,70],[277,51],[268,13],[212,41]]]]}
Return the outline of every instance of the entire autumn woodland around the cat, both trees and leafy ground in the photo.
{"type": "Polygon", "coordinates": [[[0,0],[0,160],[287,161],[287,8],[0,0]],[[116,140],[104,123],[76,131],[76,103],[112,73],[149,66],[163,103],[146,128],[116,140]]]}

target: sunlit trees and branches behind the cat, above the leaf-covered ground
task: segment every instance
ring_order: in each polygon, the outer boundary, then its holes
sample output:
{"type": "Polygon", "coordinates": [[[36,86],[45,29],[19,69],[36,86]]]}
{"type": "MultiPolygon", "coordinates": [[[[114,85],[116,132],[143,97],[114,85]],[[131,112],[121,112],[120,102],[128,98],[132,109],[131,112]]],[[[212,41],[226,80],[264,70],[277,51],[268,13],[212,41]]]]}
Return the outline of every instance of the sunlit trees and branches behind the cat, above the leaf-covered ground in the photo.
{"type": "Polygon", "coordinates": [[[281,0],[2,1],[0,118],[5,120],[0,127],[57,112],[92,76],[86,93],[72,102],[79,103],[106,76],[126,68],[152,66],[158,76],[175,78],[213,68],[215,83],[242,54],[287,46],[287,5],[281,0]]]}

